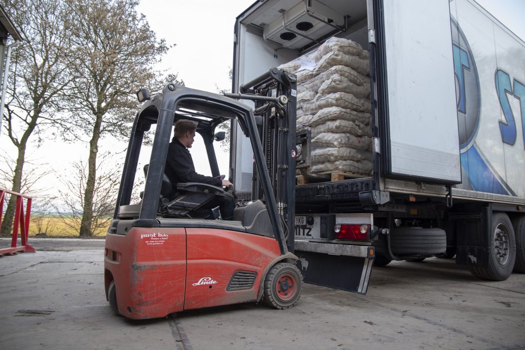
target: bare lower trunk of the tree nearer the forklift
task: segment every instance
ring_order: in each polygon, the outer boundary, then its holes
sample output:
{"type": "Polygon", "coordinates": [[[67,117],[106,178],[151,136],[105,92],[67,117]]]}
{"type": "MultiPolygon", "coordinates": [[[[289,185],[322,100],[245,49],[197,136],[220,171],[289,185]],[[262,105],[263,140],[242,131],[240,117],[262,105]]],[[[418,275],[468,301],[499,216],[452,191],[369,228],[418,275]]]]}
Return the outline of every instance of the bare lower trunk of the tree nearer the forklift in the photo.
{"type": "Polygon", "coordinates": [[[93,135],[89,141],[88,177],[86,179],[86,191],[84,193],[80,237],[89,237],[93,235],[93,197],[95,196],[95,180],[97,178],[97,154],[101,124],[102,116],[97,115],[95,125],[93,126],[93,135]]]}

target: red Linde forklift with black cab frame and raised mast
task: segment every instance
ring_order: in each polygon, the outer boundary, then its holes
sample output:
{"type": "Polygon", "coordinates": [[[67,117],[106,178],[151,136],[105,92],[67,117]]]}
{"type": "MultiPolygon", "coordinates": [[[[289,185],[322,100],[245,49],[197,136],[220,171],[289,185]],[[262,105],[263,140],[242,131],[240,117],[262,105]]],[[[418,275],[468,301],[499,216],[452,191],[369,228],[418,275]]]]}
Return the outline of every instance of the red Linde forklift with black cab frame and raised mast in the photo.
{"type": "MultiPolygon", "coordinates": [[[[139,320],[261,300],[277,309],[297,303],[303,281],[293,253],[296,89],[296,77],[274,67],[245,84],[243,94],[223,96],[174,83],[154,96],[146,89],[137,93],[143,104],[131,130],[104,252],[104,285],[114,312],[139,320]],[[237,99],[253,100],[256,108],[237,99]],[[225,138],[217,126],[231,120],[249,138],[253,187],[249,198],[236,204],[232,220],[204,219],[203,207],[224,195],[224,188],[172,184],[164,174],[171,131],[180,119],[197,125],[212,176],[221,176],[213,142],[225,138]],[[144,191],[140,202],[131,204],[150,129],[154,139],[144,191]],[[171,198],[174,189],[177,196],[171,198]]],[[[232,183],[234,174],[230,168],[232,183]]]]}

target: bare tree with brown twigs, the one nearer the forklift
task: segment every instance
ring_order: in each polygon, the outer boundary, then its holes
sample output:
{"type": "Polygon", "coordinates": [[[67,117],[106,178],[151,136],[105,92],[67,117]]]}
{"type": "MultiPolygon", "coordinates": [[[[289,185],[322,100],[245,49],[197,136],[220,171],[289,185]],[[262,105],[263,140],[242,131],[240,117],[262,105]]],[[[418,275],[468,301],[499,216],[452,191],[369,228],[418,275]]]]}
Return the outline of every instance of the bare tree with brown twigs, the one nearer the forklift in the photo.
{"type": "Polygon", "coordinates": [[[153,84],[153,69],[169,47],[158,40],[136,0],[65,0],[70,27],[68,92],[76,126],[90,137],[80,236],[90,236],[98,143],[104,135],[127,136],[138,107],[135,92],[153,84]]]}

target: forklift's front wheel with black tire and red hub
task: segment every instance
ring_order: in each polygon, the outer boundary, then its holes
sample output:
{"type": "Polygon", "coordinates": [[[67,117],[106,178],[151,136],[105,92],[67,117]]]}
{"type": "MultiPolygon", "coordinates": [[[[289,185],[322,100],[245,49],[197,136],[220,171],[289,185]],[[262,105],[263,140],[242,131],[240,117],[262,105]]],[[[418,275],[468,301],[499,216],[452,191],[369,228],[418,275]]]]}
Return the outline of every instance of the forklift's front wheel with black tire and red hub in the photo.
{"type": "Polygon", "coordinates": [[[264,301],[276,309],[293,307],[302,292],[302,275],[290,263],[279,262],[272,266],[264,281],[264,301]]]}

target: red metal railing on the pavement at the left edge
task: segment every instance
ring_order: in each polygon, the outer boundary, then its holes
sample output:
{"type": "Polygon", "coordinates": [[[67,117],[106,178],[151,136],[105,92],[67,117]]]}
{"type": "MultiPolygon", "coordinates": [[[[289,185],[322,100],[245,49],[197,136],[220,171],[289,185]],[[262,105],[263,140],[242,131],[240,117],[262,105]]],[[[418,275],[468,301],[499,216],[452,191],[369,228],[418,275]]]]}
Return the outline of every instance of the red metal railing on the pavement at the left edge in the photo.
{"type": "Polygon", "coordinates": [[[0,188],[0,225],[2,225],[2,214],[4,213],[5,194],[9,193],[16,196],[15,220],[13,222],[13,237],[11,238],[10,248],[0,248],[0,256],[3,254],[13,254],[17,251],[34,253],[35,248],[27,244],[29,235],[29,216],[31,215],[31,197],[0,188]],[[26,199],[26,211],[24,215],[24,198],[26,199]],[[20,228],[21,246],[16,246],[18,240],[18,228],[20,228]]]}

